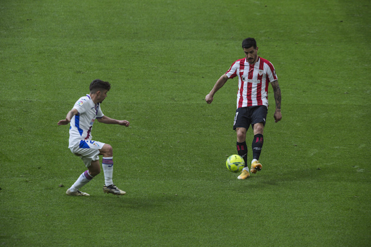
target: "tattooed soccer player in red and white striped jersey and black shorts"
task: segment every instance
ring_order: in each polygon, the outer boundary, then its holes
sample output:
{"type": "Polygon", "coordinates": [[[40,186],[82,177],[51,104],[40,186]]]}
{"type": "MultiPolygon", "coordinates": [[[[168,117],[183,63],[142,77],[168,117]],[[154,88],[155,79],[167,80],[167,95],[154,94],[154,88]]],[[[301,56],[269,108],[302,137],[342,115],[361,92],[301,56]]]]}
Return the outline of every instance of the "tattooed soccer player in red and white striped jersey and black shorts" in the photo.
{"type": "Polygon", "coordinates": [[[212,91],[206,95],[208,104],[213,102],[215,93],[225,84],[228,79],[238,77],[237,110],[233,128],[237,132],[237,151],[245,161],[238,179],[246,179],[250,176],[247,166],[246,131],[251,124],[254,138],[252,141],[251,173],[257,173],[262,169],[259,161],[263,147],[263,130],[268,109],[268,84],[273,87],[275,99],[274,120],[278,122],[281,115],[281,89],[277,80],[273,64],[258,56],[257,42],[253,38],[242,41],[245,58],[234,62],[229,70],[215,83],[212,91]]]}

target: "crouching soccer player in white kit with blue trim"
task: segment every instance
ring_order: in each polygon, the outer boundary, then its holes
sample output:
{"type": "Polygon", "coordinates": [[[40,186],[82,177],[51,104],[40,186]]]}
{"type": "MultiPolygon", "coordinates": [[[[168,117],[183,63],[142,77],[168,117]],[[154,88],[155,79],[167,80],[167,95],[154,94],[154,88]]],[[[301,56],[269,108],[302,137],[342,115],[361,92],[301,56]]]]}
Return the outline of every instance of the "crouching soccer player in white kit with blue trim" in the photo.
{"type": "Polygon", "coordinates": [[[81,192],[80,188],[101,172],[99,155],[103,155],[102,167],[105,182],[103,192],[115,195],[126,194],[125,191],[115,186],[112,181],[113,152],[111,145],[91,139],[91,129],[96,119],[100,123],[119,124],[126,127],[130,124],[126,120],[112,119],[102,113],[101,103],[107,97],[107,92],[110,88],[109,82],[99,79],[92,81],[89,86],[90,94],[76,101],[74,107],[68,111],[66,118],[58,122],[58,125],[70,124],[68,148],[72,153],[80,156],[87,167],[87,170],[67,189],[67,195],[89,195],[81,192]]]}

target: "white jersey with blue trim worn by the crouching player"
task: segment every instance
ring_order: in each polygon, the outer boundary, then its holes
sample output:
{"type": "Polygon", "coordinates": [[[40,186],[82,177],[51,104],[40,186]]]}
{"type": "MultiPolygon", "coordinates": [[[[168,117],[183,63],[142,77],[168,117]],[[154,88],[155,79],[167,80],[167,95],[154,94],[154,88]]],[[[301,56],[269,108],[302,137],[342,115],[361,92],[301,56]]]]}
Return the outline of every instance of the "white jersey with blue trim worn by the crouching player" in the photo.
{"type": "Polygon", "coordinates": [[[100,103],[95,104],[90,95],[81,97],[76,101],[73,109],[78,111],[69,123],[69,147],[80,143],[81,140],[91,140],[91,129],[97,118],[102,118],[100,103]]]}

